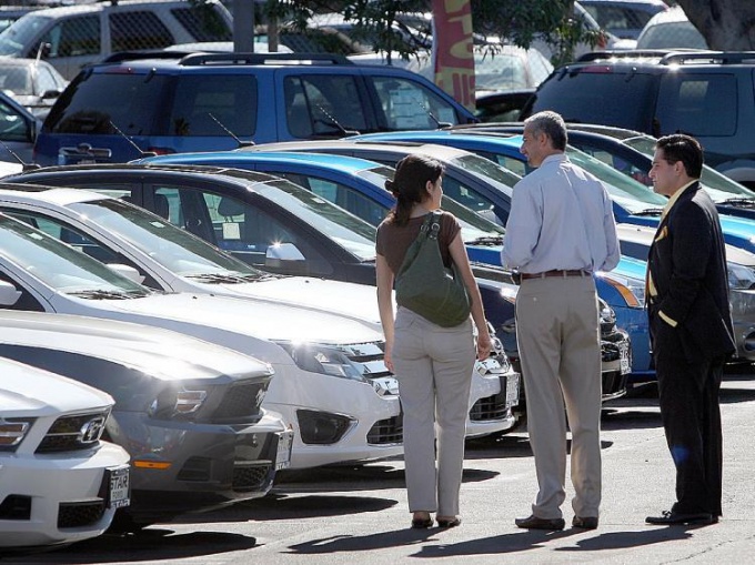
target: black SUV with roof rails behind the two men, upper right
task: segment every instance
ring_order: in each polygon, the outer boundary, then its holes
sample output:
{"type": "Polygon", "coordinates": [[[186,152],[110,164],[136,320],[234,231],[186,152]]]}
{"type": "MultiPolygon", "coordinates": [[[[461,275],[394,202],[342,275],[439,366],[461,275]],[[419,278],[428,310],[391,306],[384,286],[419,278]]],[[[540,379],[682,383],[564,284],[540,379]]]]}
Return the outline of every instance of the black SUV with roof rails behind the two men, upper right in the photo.
{"type": "Polygon", "coordinates": [[[537,88],[522,118],[554,110],[567,122],[661,137],[688,133],[706,163],[755,186],[755,52],[587,53],[537,88]]]}

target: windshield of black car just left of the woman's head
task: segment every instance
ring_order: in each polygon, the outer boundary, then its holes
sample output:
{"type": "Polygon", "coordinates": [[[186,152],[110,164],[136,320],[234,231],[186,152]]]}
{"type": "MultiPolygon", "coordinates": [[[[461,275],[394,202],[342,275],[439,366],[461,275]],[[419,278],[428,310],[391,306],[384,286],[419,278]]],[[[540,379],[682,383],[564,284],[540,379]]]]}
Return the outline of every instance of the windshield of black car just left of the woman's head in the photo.
{"type": "Polygon", "coordinates": [[[265,183],[265,198],[313,225],[361,261],[374,261],[376,229],[309,190],[286,180],[265,183]]]}

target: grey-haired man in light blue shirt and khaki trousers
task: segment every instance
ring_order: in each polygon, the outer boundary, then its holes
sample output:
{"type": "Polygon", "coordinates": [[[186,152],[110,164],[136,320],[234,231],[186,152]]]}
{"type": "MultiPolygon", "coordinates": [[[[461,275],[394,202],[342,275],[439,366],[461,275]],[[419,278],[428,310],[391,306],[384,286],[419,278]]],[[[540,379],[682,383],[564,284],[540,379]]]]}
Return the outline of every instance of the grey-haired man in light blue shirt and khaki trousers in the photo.
{"type": "Polygon", "coordinates": [[[524,122],[522,153],[535,171],[514,186],[503,263],[519,270],[516,340],[538,493],[519,527],[563,529],[566,418],[572,432],[572,525],[594,529],[601,503],[601,344],[593,273],[620,259],[611,199],[564,154],[555,112],[524,122]]]}

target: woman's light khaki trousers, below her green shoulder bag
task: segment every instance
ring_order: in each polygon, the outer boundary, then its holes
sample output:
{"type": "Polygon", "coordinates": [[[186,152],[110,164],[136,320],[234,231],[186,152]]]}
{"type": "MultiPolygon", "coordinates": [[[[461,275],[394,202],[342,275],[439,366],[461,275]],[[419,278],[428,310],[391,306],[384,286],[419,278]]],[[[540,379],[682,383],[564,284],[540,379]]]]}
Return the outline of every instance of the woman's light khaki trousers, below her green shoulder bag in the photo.
{"type": "Polygon", "coordinates": [[[409,511],[455,516],[475,359],[472,321],[441,327],[399,307],[392,353],[404,413],[409,511]]]}

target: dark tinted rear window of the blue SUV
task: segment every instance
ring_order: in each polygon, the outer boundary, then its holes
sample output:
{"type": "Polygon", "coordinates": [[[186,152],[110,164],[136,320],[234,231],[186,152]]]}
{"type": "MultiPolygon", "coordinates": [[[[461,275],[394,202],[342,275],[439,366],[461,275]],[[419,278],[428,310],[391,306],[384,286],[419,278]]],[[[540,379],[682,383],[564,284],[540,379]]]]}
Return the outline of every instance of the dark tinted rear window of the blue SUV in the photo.
{"type": "Polygon", "coordinates": [[[127,135],[164,134],[165,99],[171,78],[90,74],[61,95],[44,122],[53,133],[127,135]]]}

